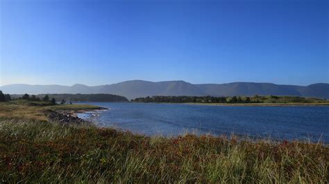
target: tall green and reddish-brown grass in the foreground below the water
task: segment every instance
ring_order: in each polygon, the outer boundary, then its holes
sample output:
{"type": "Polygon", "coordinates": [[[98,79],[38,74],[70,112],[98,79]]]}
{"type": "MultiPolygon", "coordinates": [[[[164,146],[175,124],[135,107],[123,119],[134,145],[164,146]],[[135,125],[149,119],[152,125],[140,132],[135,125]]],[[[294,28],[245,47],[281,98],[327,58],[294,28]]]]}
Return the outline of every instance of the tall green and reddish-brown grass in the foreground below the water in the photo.
{"type": "Polygon", "coordinates": [[[328,183],[328,145],[0,121],[0,183],[328,183]]]}

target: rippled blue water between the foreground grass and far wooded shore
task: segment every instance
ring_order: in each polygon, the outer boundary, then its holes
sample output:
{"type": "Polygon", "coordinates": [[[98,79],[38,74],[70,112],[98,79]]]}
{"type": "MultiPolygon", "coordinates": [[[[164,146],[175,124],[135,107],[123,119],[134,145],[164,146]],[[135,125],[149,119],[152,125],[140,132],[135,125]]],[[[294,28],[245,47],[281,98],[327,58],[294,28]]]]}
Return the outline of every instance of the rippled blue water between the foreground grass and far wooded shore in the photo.
{"type": "Polygon", "coordinates": [[[79,113],[101,127],[147,136],[242,134],[329,142],[329,107],[227,107],[194,104],[88,102],[109,110],[79,113]]]}

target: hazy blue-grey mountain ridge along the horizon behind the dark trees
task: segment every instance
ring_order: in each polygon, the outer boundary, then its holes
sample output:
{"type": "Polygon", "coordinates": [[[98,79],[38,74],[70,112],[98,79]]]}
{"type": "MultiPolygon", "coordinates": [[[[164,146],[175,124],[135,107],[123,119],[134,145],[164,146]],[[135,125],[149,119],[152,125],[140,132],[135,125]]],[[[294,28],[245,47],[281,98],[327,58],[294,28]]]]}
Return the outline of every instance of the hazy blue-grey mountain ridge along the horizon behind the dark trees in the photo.
{"type": "Polygon", "coordinates": [[[233,82],[228,84],[191,84],[182,80],[149,82],[144,80],[130,80],[117,84],[101,86],[86,86],[74,84],[62,85],[29,85],[10,84],[0,86],[3,93],[10,94],[42,94],[42,93],[107,93],[122,95],[128,99],[153,95],[298,95],[329,99],[329,84],[317,83],[308,86],[282,85],[260,82],[233,82]]]}

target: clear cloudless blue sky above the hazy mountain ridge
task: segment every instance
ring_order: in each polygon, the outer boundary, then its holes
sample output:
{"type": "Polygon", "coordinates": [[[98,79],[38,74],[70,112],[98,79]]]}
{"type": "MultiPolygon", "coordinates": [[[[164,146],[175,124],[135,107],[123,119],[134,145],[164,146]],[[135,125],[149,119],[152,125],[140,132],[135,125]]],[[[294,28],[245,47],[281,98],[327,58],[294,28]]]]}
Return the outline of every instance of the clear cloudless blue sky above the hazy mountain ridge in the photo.
{"type": "Polygon", "coordinates": [[[329,82],[328,1],[0,2],[0,85],[329,82]]]}

